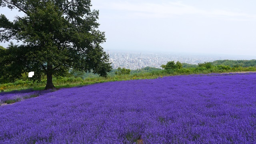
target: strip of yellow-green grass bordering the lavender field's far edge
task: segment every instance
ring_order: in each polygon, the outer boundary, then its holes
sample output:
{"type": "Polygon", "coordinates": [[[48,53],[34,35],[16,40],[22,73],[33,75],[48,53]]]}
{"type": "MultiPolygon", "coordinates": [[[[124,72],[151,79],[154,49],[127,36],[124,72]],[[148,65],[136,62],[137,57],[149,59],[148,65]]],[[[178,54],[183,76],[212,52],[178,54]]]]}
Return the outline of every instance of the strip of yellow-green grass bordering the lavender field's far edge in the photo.
{"type": "MultiPolygon", "coordinates": [[[[58,77],[53,78],[53,84],[56,88],[70,88],[74,86],[85,86],[95,83],[122,81],[122,80],[138,80],[138,79],[154,79],[162,76],[176,76],[176,75],[189,75],[189,74],[209,74],[209,73],[229,73],[229,72],[256,72],[256,67],[238,67],[230,68],[229,70],[220,69],[221,67],[214,66],[210,69],[205,67],[197,68],[182,68],[180,70],[152,70],[151,72],[138,72],[127,75],[114,75],[104,77],[87,77],[82,79],[80,77],[58,77]]],[[[46,86],[46,78],[42,79],[39,83],[33,83],[29,80],[16,80],[12,83],[0,84],[0,88],[4,88],[4,92],[12,90],[24,90],[33,88],[33,90],[44,90],[46,86]]]]}

